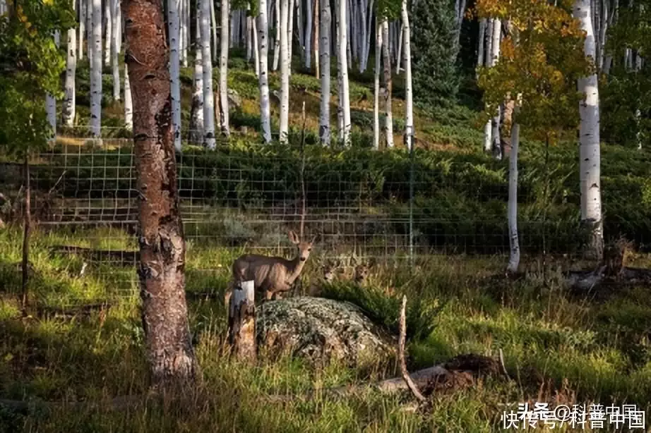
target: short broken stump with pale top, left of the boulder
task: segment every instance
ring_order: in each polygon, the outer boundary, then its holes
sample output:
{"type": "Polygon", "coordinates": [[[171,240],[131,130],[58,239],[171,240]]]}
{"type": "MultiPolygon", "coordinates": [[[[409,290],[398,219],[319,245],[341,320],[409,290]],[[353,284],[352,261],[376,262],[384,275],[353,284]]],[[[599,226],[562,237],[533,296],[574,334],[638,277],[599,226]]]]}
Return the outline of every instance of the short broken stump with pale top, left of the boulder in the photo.
{"type": "Polygon", "coordinates": [[[232,353],[248,362],[256,360],[256,305],[253,281],[235,286],[228,303],[228,341],[232,353]]]}

